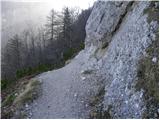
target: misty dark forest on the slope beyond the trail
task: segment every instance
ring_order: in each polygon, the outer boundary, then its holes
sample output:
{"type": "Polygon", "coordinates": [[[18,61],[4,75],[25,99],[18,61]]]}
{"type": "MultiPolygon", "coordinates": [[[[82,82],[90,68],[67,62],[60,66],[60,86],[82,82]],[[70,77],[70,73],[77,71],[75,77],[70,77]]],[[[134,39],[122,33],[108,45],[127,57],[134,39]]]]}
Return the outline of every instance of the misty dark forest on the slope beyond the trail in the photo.
{"type": "Polygon", "coordinates": [[[83,49],[91,9],[52,9],[37,31],[25,29],[9,39],[2,51],[2,89],[19,78],[60,68],[83,49]]]}

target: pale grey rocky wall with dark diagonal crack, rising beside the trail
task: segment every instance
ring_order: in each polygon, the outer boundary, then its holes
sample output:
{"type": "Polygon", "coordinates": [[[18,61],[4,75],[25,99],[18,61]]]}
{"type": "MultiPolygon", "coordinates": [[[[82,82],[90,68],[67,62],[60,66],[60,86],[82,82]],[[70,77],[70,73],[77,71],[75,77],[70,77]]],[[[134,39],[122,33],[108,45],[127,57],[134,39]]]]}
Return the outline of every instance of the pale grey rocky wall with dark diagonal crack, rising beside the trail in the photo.
{"type": "MultiPolygon", "coordinates": [[[[145,117],[145,91],[135,86],[139,60],[156,40],[158,21],[154,17],[158,14],[151,16],[156,10],[157,2],[98,1],[87,21],[85,51],[90,57],[84,69],[94,68],[100,75],[105,85],[101,108],[112,118],[145,117]]],[[[158,116],[156,107],[150,117],[158,116]]]]}

